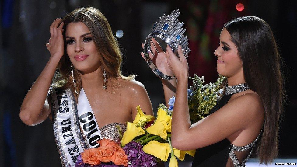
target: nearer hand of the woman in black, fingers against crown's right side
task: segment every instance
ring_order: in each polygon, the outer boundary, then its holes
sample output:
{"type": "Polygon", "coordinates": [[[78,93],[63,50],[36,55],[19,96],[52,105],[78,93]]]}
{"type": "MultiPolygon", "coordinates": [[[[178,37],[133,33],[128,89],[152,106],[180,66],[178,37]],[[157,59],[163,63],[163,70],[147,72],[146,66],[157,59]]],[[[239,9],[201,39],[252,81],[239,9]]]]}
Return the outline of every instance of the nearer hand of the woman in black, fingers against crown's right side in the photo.
{"type": "Polygon", "coordinates": [[[169,65],[169,68],[173,72],[173,74],[176,76],[178,81],[182,80],[188,80],[189,78],[189,66],[187,59],[185,55],[183,54],[183,49],[181,46],[178,46],[177,53],[180,56],[180,59],[176,56],[175,53],[173,53],[172,49],[167,45],[166,51],[168,54],[166,54],[167,57],[167,63],[169,65]]]}

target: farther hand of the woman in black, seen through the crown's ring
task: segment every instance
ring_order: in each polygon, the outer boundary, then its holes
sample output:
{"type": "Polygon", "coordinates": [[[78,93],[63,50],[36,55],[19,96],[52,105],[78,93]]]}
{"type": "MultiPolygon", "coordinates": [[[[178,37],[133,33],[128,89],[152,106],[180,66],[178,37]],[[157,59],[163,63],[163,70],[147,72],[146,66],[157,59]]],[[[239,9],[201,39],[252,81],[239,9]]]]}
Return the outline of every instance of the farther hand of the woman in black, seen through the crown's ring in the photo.
{"type": "MultiPolygon", "coordinates": [[[[142,48],[144,47],[144,44],[142,44],[142,48]]],[[[173,76],[173,72],[169,68],[169,65],[167,64],[167,58],[166,55],[168,55],[168,51],[164,52],[162,47],[159,45],[157,40],[155,38],[152,38],[151,40],[151,51],[149,51],[149,57],[152,59],[152,62],[155,64],[155,66],[165,75],[173,76]]],[[[141,53],[142,57],[145,59],[143,52],[141,53]]]]}

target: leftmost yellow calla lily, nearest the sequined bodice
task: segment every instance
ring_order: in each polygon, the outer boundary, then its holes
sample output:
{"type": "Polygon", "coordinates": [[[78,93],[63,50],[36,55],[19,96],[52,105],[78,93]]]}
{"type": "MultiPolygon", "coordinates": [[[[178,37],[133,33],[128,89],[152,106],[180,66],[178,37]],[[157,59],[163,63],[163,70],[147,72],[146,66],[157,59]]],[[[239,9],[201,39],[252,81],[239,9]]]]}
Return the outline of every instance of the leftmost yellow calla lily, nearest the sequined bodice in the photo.
{"type": "Polygon", "coordinates": [[[142,110],[140,109],[140,106],[136,107],[137,109],[137,114],[136,117],[133,121],[133,123],[131,122],[127,122],[127,130],[124,132],[123,134],[123,138],[121,141],[121,145],[124,146],[127,143],[129,143],[130,141],[132,141],[136,136],[140,136],[145,134],[145,131],[141,128],[141,127],[136,127],[136,125],[141,122],[141,121],[152,121],[155,119],[154,116],[151,115],[145,115],[142,110]]]}

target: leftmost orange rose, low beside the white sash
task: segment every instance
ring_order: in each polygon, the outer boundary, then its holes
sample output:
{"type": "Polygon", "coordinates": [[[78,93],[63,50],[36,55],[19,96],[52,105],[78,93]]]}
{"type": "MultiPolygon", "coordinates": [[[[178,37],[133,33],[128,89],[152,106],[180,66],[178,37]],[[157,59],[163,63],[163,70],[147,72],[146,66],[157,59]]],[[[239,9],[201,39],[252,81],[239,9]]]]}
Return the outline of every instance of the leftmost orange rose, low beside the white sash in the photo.
{"type": "Polygon", "coordinates": [[[98,150],[97,148],[85,149],[80,155],[82,155],[82,161],[88,163],[91,166],[99,165],[101,161],[97,157],[98,150]]]}

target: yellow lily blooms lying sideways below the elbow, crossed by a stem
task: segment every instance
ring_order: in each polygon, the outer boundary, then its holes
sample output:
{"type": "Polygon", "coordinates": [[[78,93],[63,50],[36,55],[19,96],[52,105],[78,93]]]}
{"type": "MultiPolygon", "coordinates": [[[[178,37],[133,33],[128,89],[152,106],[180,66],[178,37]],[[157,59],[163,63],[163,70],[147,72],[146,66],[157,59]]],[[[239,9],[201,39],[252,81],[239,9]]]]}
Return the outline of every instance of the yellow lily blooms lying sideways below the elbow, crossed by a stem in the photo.
{"type": "MultiPolygon", "coordinates": [[[[169,153],[171,153],[169,143],[160,143],[154,140],[143,146],[142,150],[147,154],[160,158],[162,161],[167,161],[169,153]]],[[[176,148],[173,148],[174,155],[181,161],[185,159],[186,153],[194,157],[195,151],[196,150],[180,151],[176,148]]]]}

